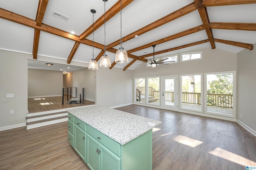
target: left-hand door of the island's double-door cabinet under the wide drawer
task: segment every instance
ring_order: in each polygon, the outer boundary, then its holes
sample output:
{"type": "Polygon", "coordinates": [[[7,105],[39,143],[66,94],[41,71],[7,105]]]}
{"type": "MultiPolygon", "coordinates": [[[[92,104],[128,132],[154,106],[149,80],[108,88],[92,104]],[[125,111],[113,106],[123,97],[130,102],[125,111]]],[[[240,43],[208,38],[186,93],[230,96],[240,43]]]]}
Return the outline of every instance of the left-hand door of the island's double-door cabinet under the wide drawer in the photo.
{"type": "Polygon", "coordinates": [[[91,170],[100,169],[100,144],[90,134],[87,135],[87,165],[91,170]]]}

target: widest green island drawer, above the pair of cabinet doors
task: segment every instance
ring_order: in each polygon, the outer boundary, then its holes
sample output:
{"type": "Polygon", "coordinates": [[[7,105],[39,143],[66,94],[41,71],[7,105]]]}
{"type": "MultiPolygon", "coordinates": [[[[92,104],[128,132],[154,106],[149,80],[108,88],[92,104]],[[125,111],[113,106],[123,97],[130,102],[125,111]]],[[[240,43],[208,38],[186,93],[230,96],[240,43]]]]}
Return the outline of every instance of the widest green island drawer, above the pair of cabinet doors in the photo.
{"type": "Polygon", "coordinates": [[[121,156],[121,145],[119,143],[90,126],[87,126],[87,133],[93,136],[100,143],[104,144],[107,148],[112,150],[112,152],[118,156],[121,156]]]}

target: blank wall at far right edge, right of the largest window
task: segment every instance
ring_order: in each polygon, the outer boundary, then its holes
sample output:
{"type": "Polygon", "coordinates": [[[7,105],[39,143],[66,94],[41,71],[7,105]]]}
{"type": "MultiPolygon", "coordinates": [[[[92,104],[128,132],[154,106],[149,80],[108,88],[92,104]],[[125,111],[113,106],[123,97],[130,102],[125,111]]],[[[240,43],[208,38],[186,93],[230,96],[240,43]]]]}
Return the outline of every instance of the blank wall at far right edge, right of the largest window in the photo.
{"type": "Polygon", "coordinates": [[[237,70],[238,123],[256,135],[256,49],[237,54],[237,70]]]}

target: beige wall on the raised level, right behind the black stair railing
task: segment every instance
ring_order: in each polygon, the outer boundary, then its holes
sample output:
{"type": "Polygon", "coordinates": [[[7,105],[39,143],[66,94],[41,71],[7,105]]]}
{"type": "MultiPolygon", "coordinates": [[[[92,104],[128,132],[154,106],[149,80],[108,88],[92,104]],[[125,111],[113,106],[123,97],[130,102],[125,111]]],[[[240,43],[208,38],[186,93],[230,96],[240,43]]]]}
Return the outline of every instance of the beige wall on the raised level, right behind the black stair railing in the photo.
{"type": "Polygon", "coordinates": [[[77,87],[77,96],[82,96],[84,88],[84,99],[95,101],[95,71],[88,68],[80,69],[73,72],[73,85],[77,87]]]}

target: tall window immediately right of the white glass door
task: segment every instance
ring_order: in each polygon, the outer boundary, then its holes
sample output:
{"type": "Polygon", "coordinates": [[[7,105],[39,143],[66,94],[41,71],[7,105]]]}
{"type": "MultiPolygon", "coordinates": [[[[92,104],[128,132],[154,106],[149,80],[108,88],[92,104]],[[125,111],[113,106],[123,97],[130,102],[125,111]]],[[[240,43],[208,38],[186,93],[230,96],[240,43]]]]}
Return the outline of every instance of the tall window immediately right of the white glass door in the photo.
{"type": "Polygon", "coordinates": [[[181,108],[201,111],[201,75],[181,76],[181,108]]]}

